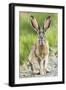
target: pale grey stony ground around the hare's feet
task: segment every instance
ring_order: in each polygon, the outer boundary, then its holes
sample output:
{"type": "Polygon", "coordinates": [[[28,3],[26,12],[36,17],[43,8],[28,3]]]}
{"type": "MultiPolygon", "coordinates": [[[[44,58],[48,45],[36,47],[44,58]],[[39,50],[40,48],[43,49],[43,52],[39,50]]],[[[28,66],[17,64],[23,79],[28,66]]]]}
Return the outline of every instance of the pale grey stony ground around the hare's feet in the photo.
{"type": "MultiPolygon", "coordinates": [[[[49,62],[48,62],[48,68],[50,72],[48,72],[45,77],[50,77],[50,76],[57,76],[58,74],[58,57],[55,55],[49,56],[49,62]]],[[[19,77],[20,78],[25,78],[25,77],[38,77],[41,76],[40,74],[33,74],[31,70],[31,66],[28,68],[24,68],[24,66],[19,67],[19,77]]]]}

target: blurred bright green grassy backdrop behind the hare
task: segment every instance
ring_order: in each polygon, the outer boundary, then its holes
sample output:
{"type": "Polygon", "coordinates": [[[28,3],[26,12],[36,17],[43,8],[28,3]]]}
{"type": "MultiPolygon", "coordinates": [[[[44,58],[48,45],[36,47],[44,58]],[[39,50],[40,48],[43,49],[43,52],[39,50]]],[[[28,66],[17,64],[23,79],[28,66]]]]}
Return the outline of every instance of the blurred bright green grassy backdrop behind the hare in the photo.
{"type": "Polygon", "coordinates": [[[52,48],[57,47],[58,42],[58,14],[39,12],[19,12],[19,56],[20,65],[27,61],[31,47],[37,40],[37,33],[31,26],[30,16],[36,17],[38,23],[43,26],[47,16],[51,16],[51,25],[45,37],[52,48]]]}

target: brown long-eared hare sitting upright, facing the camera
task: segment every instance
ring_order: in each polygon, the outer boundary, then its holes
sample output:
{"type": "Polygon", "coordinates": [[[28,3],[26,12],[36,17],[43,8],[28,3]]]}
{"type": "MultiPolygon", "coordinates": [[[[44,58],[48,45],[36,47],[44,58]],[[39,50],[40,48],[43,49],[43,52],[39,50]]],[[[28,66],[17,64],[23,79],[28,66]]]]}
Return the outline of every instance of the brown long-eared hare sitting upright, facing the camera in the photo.
{"type": "Polygon", "coordinates": [[[45,39],[45,32],[50,27],[51,16],[48,16],[43,24],[43,28],[38,25],[38,22],[34,16],[31,16],[31,24],[34,30],[37,32],[38,40],[32,46],[29,54],[29,62],[32,65],[33,73],[40,73],[41,75],[46,74],[48,71],[48,55],[49,55],[49,45],[48,41],[45,39]]]}

